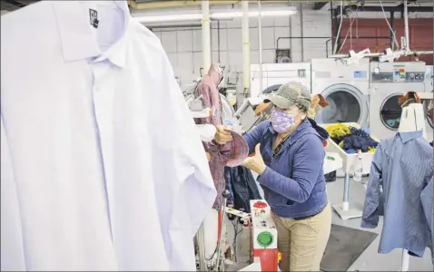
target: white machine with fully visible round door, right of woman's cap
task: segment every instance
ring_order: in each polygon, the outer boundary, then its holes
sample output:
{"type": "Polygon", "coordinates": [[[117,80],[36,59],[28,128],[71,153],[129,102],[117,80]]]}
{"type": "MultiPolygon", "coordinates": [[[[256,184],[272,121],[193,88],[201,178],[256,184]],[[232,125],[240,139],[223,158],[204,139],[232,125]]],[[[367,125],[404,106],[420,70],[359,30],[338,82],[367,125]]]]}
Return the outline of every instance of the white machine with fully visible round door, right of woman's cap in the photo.
{"type": "Polygon", "coordinates": [[[311,92],[329,102],[316,116],[319,123],[357,122],[369,126],[370,61],[347,65],[341,59],[311,60],[311,92]]]}

